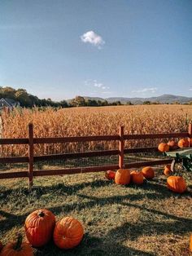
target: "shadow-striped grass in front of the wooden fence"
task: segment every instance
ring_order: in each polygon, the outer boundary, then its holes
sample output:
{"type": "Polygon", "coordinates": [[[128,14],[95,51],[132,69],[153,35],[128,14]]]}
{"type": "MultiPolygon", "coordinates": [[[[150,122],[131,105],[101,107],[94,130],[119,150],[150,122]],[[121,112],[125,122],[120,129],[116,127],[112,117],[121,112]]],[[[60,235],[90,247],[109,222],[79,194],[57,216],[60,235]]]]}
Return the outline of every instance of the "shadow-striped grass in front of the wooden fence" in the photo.
{"type": "Polygon", "coordinates": [[[36,255],[189,255],[192,233],[192,174],[185,174],[183,195],[168,191],[162,170],[142,186],[118,186],[103,173],[34,179],[2,180],[0,240],[5,244],[38,208],[51,210],[58,220],[78,218],[85,236],[75,249],[63,251],[52,241],[36,255]]]}

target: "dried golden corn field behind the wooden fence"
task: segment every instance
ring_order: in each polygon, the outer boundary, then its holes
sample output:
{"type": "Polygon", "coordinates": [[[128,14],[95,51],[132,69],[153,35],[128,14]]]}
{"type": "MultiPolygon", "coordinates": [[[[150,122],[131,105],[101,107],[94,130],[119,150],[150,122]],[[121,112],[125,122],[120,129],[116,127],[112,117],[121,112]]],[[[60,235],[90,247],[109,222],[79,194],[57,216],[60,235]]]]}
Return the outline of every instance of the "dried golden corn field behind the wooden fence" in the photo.
{"type": "MultiPolygon", "coordinates": [[[[27,138],[28,123],[33,121],[34,137],[67,137],[117,135],[124,126],[125,134],[182,132],[192,120],[190,105],[139,105],[100,108],[63,108],[55,110],[15,109],[2,113],[3,138],[27,138]]],[[[159,141],[147,139],[126,141],[125,147],[155,146],[159,141]]],[[[35,154],[82,152],[117,148],[117,142],[53,143],[35,145],[35,154]]],[[[2,145],[2,156],[27,155],[24,145],[2,145]]]]}

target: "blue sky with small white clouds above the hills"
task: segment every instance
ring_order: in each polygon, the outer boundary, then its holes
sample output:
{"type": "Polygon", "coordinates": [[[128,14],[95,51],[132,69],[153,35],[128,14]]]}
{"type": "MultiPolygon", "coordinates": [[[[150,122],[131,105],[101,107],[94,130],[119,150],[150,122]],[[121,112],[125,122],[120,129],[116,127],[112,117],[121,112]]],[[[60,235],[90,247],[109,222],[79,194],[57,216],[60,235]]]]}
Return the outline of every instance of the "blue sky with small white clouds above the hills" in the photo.
{"type": "Polygon", "coordinates": [[[0,86],[40,98],[192,96],[191,0],[1,0],[0,86]]]}

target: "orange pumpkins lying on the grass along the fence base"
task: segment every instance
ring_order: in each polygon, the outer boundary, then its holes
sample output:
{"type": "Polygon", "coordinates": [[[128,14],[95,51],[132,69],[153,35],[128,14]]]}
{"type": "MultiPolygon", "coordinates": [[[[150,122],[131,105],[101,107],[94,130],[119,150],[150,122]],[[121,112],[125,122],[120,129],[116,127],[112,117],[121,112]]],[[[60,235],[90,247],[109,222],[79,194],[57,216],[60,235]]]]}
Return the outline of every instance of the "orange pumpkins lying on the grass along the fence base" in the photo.
{"type": "MultiPolygon", "coordinates": [[[[177,193],[185,192],[187,188],[185,179],[178,175],[172,175],[171,165],[164,166],[164,174],[168,176],[167,187],[169,190],[177,193]]],[[[141,185],[144,179],[153,179],[155,171],[151,166],[146,166],[141,171],[127,169],[107,170],[105,176],[107,179],[114,180],[116,184],[128,185],[129,183],[134,183],[141,185]]]]}

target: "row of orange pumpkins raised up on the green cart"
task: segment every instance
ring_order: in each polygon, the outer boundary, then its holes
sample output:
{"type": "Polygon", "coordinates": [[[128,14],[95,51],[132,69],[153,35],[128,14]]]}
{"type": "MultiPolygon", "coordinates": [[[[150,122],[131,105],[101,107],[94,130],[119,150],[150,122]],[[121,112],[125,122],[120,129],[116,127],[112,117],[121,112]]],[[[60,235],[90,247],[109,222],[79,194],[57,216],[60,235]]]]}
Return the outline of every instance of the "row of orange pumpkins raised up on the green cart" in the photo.
{"type": "Polygon", "coordinates": [[[176,150],[177,148],[189,148],[192,146],[192,139],[182,138],[178,141],[169,140],[168,143],[159,143],[158,150],[160,152],[168,152],[169,150],[176,150]]]}

